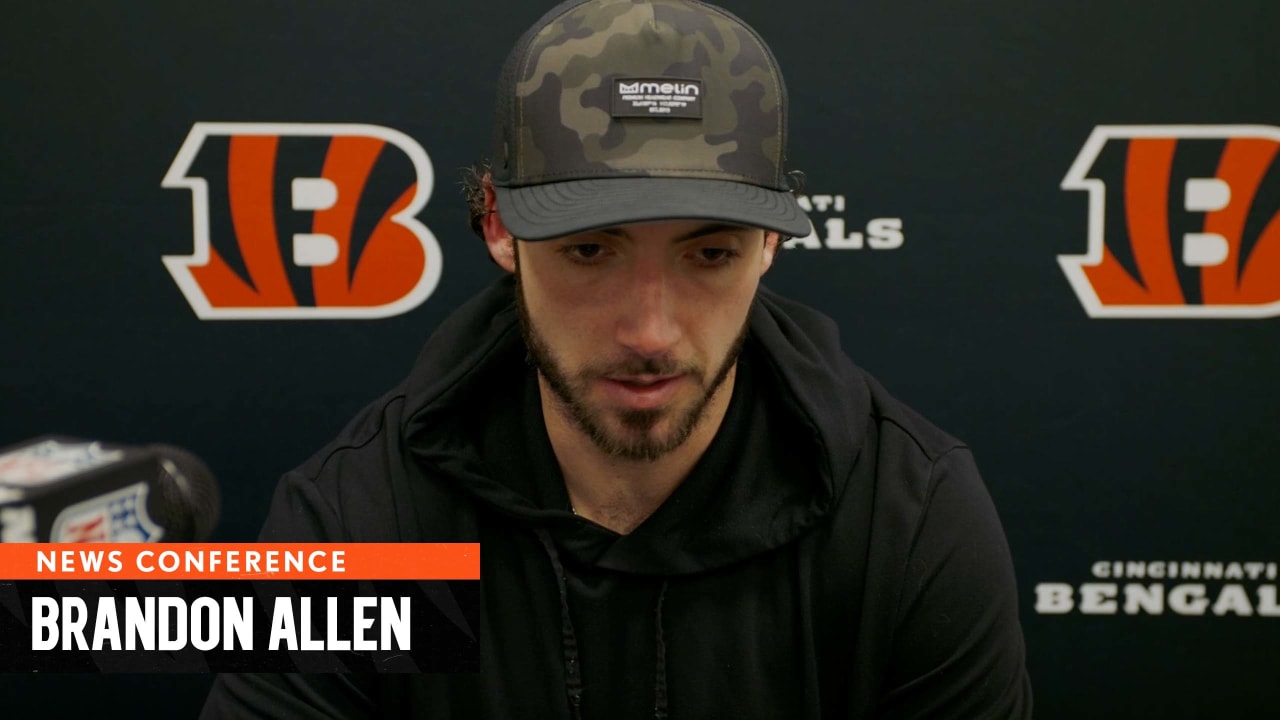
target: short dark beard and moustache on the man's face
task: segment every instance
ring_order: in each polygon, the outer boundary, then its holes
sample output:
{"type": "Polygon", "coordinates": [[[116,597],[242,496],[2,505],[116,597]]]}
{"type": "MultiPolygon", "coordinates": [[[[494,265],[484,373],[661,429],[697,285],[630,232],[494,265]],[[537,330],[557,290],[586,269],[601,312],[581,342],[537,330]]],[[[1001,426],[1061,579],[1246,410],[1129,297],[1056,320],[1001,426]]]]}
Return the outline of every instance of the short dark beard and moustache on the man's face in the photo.
{"type": "Polygon", "coordinates": [[[518,259],[516,261],[516,309],[520,315],[520,333],[529,348],[530,361],[559,401],[563,415],[602,452],[622,460],[652,462],[684,445],[705,418],[707,406],[728,379],[728,373],[737,363],[742,345],[746,342],[748,322],[744,319],[737,338],[730,345],[724,359],[709,382],[705,379],[707,373],[701,365],[678,363],[669,355],[653,357],[630,355],[570,370],[556,357],[529,315],[529,307],[525,305],[525,290],[520,282],[518,259]],[[591,405],[588,400],[594,380],[603,377],[635,375],[685,375],[696,384],[700,395],[685,409],[653,407],[609,411],[591,405]],[[621,429],[611,428],[609,415],[616,418],[621,429]],[[666,418],[672,418],[672,423],[666,432],[659,432],[658,425],[666,418]]]}

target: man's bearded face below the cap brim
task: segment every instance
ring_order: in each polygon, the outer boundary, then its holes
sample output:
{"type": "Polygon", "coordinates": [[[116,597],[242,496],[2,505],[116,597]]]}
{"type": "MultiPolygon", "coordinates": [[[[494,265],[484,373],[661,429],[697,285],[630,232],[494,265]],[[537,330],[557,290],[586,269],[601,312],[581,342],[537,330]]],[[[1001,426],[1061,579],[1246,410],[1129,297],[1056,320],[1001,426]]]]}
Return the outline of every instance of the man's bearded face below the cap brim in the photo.
{"type": "Polygon", "coordinates": [[[557,411],[612,456],[678,447],[733,370],[776,243],[704,220],[517,242],[521,329],[557,411]]]}

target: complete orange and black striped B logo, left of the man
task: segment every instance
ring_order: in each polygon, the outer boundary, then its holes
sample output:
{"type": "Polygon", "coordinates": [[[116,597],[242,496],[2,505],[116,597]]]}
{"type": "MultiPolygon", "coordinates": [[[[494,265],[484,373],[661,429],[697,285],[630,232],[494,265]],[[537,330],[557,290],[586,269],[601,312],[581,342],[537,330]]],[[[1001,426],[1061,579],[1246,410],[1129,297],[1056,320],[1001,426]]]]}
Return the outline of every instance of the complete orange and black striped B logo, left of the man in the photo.
{"type": "Polygon", "coordinates": [[[440,279],[433,179],[385,127],[196,123],[160,183],[191,191],[195,250],[163,260],[205,320],[398,315],[440,279]]]}

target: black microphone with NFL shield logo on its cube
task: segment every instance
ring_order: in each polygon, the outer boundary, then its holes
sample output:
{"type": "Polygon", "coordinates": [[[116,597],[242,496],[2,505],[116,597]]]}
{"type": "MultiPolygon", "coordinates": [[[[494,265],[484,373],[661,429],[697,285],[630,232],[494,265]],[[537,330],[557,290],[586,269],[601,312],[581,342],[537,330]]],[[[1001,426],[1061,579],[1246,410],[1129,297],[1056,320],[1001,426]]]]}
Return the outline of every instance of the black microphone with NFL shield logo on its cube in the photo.
{"type": "Polygon", "coordinates": [[[0,448],[0,542],[202,542],[214,474],[169,445],[44,436],[0,448]]]}

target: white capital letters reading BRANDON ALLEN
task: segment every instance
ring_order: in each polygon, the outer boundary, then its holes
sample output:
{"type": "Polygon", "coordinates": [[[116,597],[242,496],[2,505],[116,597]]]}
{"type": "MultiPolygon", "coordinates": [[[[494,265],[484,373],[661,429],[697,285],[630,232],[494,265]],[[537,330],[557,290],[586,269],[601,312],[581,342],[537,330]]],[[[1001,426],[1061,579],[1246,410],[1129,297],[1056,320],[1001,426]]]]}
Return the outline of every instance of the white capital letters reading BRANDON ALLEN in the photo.
{"type": "MultiPolygon", "coordinates": [[[[253,648],[253,602],[248,597],[125,597],[122,614],[114,597],[90,607],[78,597],[31,598],[31,650],[186,650],[253,648]],[[219,602],[220,601],[220,602],[219,602]],[[86,637],[87,634],[87,637],[86,637]]],[[[291,651],[408,651],[410,598],[355,597],[349,633],[338,629],[338,598],[325,598],[324,638],[312,635],[311,598],[276,597],[268,650],[291,651]],[[378,639],[369,637],[378,624],[378,639]]]]}

